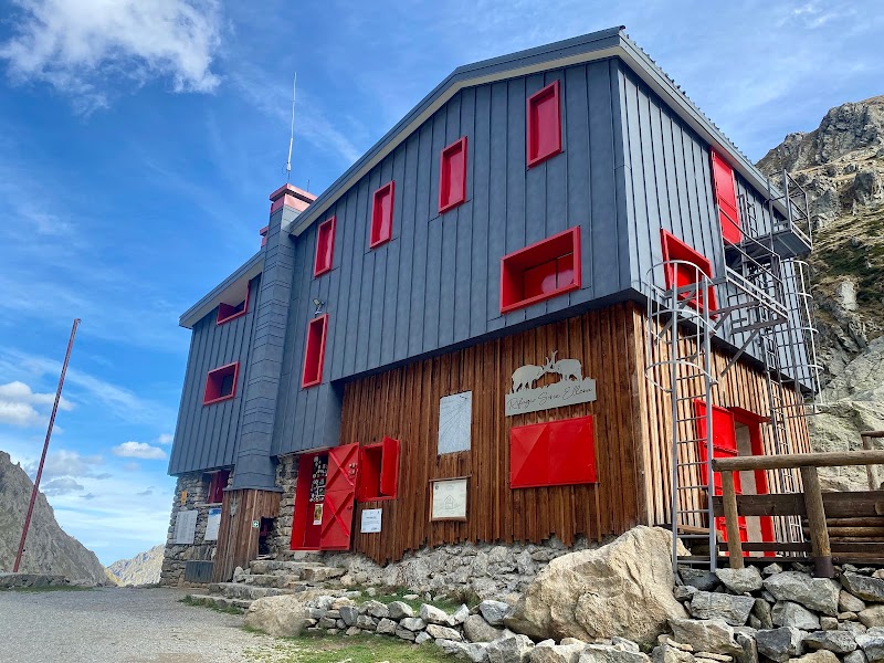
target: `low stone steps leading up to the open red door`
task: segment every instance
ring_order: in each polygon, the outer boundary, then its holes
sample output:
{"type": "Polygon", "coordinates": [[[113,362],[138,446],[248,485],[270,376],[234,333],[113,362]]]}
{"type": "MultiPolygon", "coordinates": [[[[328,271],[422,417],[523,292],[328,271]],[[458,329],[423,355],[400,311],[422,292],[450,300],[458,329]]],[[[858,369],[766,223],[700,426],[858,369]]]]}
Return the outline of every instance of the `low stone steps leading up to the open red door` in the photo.
{"type": "Polygon", "coordinates": [[[312,589],[341,590],[338,578],[346,569],[325,566],[318,555],[298,559],[255,559],[248,569],[234,572],[232,582],[212,582],[208,593],[192,593],[189,599],[215,608],[248,610],[264,597],[293,594],[312,589]]]}

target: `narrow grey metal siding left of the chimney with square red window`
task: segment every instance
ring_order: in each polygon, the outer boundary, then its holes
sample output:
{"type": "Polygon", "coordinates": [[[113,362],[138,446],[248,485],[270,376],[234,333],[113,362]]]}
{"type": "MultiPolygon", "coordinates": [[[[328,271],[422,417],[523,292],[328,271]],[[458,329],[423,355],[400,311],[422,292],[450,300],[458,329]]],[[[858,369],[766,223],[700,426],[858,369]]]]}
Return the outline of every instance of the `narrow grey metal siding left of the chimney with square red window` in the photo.
{"type": "Polygon", "coordinates": [[[255,304],[261,277],[250,282],[249,311],[234,320],[217,325],[218,309],[193,326],[181,406],[169,460],[169,474],[232,465],[245,391],[245,369],[254,333],[255,304]],[[219,366],[240,362],[236,396],[203,406],[206,376],[219,366]]]}

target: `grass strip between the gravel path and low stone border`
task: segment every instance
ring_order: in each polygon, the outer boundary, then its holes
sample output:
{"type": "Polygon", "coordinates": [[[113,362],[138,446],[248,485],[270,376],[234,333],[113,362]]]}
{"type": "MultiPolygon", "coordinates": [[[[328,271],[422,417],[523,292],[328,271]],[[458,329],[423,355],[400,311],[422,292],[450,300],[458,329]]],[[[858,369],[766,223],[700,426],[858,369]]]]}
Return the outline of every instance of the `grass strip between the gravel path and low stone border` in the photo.
{"type": "Polygon", "coordinates": [[[450,661],[435,645],[414,645],[382,635],[302,635],[284,638],[267,649],[250,651],[254,661],[274,663],[440,663],[450,661]]]}

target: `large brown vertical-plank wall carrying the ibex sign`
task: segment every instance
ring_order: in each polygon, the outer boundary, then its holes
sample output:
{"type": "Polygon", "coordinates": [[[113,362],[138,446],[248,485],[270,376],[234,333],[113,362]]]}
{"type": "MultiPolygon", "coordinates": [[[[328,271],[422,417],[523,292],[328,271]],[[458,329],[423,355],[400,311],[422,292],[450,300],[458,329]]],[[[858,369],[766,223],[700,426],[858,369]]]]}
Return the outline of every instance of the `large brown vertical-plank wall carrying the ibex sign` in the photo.
{"type": "MultiPolygon", "coordinates": [[[[341,443],[401,442],[399,497],[360,504],[354,549],[379,562],[407,550],[457,541],[541,541],[571,545],[646,520],[640,420],[639,339],[633,306],[617,305],[350,382],[344,392],[341,443]],[[543,412],[504,415],[513,371],[526,364],[579,359],[597,380],[598,400],[543,412]],[[472,449],[438,455],[439,400],[473,392],[472,449]],[[509,488],[509,429],[593,415],[599,482],[509,488]],[[470,476],[465,523],[430,523],[430,480],[470,476]],[[382,508],[382,532],[360,534],[362,508],[382,508]]],[[[538,386],[555,381],[546,376],[538,386]]]]}

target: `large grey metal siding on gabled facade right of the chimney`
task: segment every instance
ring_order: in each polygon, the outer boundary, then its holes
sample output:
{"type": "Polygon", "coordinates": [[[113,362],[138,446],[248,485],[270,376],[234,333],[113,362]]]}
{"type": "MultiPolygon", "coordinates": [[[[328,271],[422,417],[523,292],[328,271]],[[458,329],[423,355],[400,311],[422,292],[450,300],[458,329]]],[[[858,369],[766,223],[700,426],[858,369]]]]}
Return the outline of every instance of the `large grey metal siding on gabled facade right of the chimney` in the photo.
{"type": "Polygon", "coordinates": [[[461,91],[325,214],[337,215],[333,270],[313,277],[314,224],[297,238],[295,286],[274,453],[337,444],[340,394],[329,385],[390,364],[539,324],[630,287],[617,61],[461,91]],[[562,82],[564,152],[526,168],[526,99],[562,82]],[[467,136],[466,202],[440,217],[442,149],[467,136]],[[368,248],[373,191],[396,180],[392,240],[368,248]],[[582,286],[499,313],[501,257],[581,227],[582,286]],[[302,390],[312,299],[326,302],[323,385],[302,390]]]}

